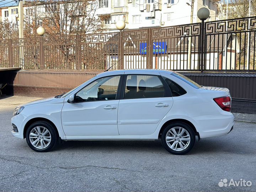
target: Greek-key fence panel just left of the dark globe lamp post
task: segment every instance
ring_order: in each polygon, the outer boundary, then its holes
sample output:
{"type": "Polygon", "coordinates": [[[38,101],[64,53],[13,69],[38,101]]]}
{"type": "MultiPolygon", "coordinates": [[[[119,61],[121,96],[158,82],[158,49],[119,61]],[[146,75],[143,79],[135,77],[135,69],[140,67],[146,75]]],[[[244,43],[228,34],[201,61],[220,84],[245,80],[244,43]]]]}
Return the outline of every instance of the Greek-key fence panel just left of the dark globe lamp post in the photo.
{"type": "Polygon", "coordinates": [[[151,59],[155,69],[200,69],[201,23],[152,29],[151,59]]]}

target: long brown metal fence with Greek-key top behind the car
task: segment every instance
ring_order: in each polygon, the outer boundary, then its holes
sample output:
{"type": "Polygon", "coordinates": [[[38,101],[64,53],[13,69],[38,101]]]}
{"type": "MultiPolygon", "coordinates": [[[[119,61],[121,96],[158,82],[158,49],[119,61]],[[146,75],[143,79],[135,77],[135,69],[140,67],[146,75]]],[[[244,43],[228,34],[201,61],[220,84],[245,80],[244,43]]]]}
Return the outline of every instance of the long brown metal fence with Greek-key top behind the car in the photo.
{"type": "Polygon", "coordinates": [[[256,17],[113,33],[0,40],[0,66],[23,69],[256,71],[256,17]]]}

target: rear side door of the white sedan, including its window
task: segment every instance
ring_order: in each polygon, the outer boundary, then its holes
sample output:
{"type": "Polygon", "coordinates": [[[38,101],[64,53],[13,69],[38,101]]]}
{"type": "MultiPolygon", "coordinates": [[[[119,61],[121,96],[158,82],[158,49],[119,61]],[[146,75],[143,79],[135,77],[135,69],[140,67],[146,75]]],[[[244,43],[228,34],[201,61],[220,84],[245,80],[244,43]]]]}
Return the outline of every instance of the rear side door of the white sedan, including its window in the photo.
{"type": "Polygon", "coordinates": [[[119,135],[153,134],[173,104],[160,75],[126,75],[118,106],[119,135]]]}

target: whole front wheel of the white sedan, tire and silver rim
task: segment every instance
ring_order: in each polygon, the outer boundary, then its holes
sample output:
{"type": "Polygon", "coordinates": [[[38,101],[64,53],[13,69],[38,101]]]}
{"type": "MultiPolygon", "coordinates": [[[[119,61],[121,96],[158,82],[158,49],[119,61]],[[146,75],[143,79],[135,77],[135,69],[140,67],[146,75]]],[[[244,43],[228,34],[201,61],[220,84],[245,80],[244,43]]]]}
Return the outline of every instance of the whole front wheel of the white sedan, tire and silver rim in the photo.
{"type": "Polygon", "coordinates": [[[58,133],[51,123],[38,121],[28,127],[26,141],[34,151],[47,152],[57,144],[58,133]]]}

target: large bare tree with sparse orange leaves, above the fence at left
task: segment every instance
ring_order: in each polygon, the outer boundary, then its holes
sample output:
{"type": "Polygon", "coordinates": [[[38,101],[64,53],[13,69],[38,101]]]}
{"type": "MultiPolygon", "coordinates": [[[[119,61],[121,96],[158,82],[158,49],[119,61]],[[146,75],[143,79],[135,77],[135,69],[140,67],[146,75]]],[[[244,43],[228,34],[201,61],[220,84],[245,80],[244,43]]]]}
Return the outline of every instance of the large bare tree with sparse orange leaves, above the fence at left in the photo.
{"type": "Polygon", "coordinates": [[[97,16],[98,0],[41,0],[26,1],[25,36],[46,28],[49,35],[101,32],[104,16],[97,16]]]}

